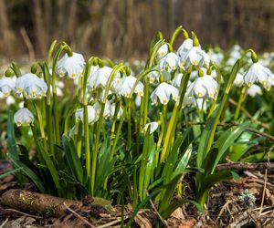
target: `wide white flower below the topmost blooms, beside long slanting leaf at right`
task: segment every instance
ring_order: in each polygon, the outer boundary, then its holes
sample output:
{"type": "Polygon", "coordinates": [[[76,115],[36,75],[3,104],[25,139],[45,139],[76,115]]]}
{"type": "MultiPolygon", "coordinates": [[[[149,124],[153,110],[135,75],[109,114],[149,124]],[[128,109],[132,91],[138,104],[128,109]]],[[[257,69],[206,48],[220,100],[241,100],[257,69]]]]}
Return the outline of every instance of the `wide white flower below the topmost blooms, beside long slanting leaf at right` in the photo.
{"type": "Polygon", "coordinates": [[[195,98],[215,98],[218,84],[209,75],[198,77],[189,86],[189,94],[195,98]]]}

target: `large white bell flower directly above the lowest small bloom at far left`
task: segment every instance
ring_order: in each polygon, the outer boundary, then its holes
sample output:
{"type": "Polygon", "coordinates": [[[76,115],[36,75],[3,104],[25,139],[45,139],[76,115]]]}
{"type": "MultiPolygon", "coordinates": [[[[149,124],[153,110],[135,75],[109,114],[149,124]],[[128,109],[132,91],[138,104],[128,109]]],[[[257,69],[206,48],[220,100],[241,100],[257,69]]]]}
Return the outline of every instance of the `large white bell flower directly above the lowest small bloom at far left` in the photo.
{"type": "Polygon", "coordinates": [[[26,98],[42,98],[46,96],[47,84],[37,75],[27,73],[16,79],[15,90],[17,95],[23,93],[26,98]]]}

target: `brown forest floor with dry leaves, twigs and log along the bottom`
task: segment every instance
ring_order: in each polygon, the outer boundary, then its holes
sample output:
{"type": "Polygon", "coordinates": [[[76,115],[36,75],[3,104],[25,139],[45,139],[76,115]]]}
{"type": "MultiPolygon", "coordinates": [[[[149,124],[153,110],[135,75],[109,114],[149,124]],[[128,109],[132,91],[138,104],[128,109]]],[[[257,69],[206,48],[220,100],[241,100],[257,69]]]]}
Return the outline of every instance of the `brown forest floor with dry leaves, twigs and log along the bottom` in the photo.
{"type": "MultiPolygon", "coordinates": [[[[0,161],[0,173],[12,168],[10,162],[0,161]]],[[[223,181],[210,191],[205,215],[197,212],[194,205],[185,204],[163,221],[165,226],[274,227],[274,171],[239,171],[239,174],[237,181],[223,181]]],[[[193,176],[185,177],[183,186],[188,197],[194,197],[193,176]]],[[[26,188],[31,189],[31,185],[26,188]]],[[[121,206],[96,198],[77,202],[20,190],[13,175],[0,181],[0,228],[121,227],[131,215],[130,204],[121,212],[121,206]],[[58,206],[45,211],[53,202],[58,206]]],[[[152,209],[138,212],[132,227],[155,227],[157,217],[157,205],[152,204],[152,209]]]]}

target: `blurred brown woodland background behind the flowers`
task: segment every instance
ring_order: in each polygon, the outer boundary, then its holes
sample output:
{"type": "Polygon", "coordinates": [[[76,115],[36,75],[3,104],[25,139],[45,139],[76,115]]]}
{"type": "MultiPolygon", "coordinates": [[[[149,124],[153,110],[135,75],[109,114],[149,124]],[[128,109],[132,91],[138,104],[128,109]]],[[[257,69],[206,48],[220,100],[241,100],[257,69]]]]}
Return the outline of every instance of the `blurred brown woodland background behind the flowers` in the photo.
{"type": "Polygon", "coordinates": [[[274,0],[0,0],[0,57],[45,57],[58,39],[86,57],[142,58],[155,31],[179,25],[202,45],[271,51],[274,0]]]}

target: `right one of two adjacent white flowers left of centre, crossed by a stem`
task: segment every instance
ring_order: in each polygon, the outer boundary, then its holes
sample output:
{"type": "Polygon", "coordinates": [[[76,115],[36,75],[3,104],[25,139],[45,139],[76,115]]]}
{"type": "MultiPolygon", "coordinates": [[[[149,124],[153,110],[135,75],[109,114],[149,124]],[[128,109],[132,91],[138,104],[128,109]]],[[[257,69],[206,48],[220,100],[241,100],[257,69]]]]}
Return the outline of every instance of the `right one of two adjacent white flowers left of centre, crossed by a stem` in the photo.
{"type": "MultiPolygon", "coordinates": [[[[132,88],[136,82],[137,78],[132,75],[121,78],[121,83],[116,88],[118,93],[121,96],[126,98],[130,98],[130,94],[132,92],[132,88]]],[[[134,93],[137,93],[139,96],[143,96],[143,84],[141,81],[138,82],[136,87],[134,88],[134,93]]]]}

